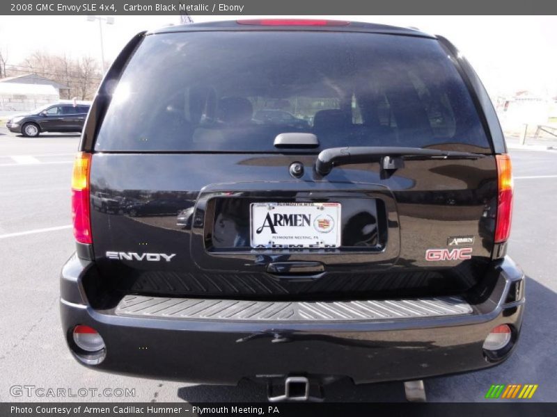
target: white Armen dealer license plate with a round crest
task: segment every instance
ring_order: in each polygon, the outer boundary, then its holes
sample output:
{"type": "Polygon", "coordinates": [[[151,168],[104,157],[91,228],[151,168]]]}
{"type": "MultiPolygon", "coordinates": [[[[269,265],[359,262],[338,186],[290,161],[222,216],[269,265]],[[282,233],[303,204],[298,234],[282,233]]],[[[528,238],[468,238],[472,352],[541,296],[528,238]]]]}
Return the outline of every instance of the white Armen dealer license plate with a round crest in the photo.
{"type": "Polygon", "coordinates": [[[252,203],[251,247],[340,247],[340,203],[252,203]]]}

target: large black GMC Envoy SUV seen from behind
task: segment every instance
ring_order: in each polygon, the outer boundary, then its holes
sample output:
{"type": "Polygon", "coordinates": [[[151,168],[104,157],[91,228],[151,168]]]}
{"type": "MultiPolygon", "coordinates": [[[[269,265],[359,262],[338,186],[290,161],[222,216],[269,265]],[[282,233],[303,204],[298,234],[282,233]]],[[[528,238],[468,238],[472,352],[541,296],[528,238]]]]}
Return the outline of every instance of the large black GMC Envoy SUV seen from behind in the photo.
{"type": "Polygon", "coordinates": [[[72,193],[62,326],[90,368],[247,378],[270,400],[400,380],[423,400],[424,377],[517,343],[510,159],[444,38],[320,20],[140,33],[95,97],[72,193]]]}

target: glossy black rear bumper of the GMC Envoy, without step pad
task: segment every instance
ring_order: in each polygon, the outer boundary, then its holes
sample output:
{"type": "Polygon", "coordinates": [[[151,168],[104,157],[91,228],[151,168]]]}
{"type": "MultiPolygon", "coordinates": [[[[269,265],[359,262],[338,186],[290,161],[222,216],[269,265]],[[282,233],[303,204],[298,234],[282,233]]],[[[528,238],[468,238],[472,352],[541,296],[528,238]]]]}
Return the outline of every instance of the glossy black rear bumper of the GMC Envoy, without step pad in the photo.
{"type": "MultiPolygon", "coordinates": [[[[356,383],[411,380],[494,366],[483,341],[496,325],[519,336],[524,275],[510,259],[494,263],[473,313],[399,320],[250,321],[122,316],[95,310],[81,284],[94,266],[73,257],[61,276],[68,344],[75,325],[95,328],[107,346],[97,370],[159,379],[237,384],[244,377],[350,377],[356,383]],[[508,299],[513,283],[520,296],[508,299]]],[[[516,345],[516,343],[514,344],[516,345]]],[[[513,345],[513,348],[514,348],[513,345]]],[[[79,357],[74,354],[80,363],[79,357]]]]}

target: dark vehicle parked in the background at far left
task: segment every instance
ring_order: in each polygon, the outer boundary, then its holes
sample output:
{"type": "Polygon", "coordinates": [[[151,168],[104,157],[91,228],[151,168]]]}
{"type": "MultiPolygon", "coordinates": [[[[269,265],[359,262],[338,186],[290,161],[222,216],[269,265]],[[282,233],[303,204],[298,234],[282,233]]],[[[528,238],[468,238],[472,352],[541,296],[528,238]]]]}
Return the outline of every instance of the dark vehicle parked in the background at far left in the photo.
{"type": "Polygon", "coordinates": [[[49,104],[10,117],[6,127],[14,133],[31,137],[39,136],[41,132],[81,132],[89,107],[88,104],[49,104]]]}

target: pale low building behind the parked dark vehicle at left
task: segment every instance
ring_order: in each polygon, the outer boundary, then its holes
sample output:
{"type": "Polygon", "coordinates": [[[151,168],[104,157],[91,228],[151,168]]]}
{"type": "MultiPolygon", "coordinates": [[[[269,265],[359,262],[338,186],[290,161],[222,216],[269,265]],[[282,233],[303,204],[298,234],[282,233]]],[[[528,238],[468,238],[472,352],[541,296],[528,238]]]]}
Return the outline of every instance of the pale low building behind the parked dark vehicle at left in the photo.
{"type": "Polygon", "coordinates": [[[69,87],[37,74],[0,79],[0,111],[29,111],[60,99],[69,87]]]}

